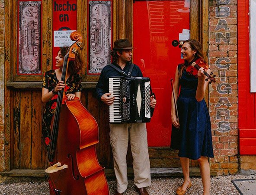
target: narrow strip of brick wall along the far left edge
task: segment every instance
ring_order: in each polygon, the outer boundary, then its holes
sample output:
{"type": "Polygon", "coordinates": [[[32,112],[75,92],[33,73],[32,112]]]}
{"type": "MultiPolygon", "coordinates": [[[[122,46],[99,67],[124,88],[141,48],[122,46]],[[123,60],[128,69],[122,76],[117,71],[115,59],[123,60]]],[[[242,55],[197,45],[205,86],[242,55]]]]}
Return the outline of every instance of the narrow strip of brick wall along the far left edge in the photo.
{"type": "Polygon", "coordinates": [[[4,0],[0,0],[0,171],[4,169],[4,0]]]}

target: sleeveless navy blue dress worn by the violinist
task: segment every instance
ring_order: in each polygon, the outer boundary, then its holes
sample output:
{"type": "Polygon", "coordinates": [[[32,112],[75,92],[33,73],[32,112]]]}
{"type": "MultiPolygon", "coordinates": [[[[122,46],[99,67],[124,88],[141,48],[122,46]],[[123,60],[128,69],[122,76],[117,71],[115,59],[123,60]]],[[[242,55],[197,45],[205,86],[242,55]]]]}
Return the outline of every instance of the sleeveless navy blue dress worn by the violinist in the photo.
{"type": "Polygon", "coordinates": [[[208,108],[204,99],[199,102],[195,99],[198,79],[185,70],[179,84],[177,107],[180,129],[172,127],[171,148],[179,149],[179,157],[193,160],[201,156],[213,157],[208,108]]]}

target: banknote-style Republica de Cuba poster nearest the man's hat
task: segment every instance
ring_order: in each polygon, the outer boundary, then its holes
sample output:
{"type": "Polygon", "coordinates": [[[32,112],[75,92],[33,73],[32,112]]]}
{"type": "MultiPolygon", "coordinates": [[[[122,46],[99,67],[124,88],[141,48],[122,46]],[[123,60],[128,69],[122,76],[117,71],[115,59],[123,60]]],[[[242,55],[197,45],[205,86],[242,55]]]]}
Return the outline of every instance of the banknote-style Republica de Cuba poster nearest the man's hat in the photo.
{"type": "Polygon", "coordinates": [[[89,1],[89,74],[100,74],[111,62],[111,1],[89,1]]]}

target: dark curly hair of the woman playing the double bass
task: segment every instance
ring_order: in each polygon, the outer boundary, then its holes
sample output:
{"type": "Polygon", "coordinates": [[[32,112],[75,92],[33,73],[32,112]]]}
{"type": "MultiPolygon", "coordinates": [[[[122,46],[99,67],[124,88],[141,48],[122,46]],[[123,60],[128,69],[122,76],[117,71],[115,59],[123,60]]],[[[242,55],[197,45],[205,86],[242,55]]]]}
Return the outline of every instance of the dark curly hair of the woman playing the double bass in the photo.
{"type": "MultiPolygon", "coordinates": [[[[60,47],[61,56],[64,58],[67,54],[68,47],[60,47]]],[[[80,72],[80,70],[83,68],[83,60],[81,59],[80,53],[75,55],[75,61],[70,61],[68,64],[67,71],[72,74],[76,74],[80,72]]]]}

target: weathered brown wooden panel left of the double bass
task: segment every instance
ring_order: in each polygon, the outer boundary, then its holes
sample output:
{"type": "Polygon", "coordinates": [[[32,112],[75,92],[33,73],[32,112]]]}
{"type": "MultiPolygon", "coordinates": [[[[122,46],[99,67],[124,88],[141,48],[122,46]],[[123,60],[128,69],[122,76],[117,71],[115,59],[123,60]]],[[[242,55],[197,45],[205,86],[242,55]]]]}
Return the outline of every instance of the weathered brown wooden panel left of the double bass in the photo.
{"type": "Polygon", "coordinates": [[[42,139],[41,91],[13,93],[13,169],[42,169],[45,148],[42,139]]]}

